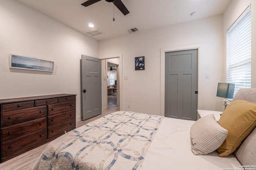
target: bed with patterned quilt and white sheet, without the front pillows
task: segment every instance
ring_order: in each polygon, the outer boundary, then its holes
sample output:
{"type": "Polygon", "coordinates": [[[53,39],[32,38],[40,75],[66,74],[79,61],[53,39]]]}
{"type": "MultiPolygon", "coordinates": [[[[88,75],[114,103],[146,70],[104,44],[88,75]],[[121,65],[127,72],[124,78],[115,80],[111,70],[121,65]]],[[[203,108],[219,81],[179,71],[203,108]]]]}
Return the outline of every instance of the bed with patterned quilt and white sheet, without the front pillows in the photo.
{"type": "MultiPolygon", "coordinates": [[[[256,94],[256,90],[254,92],[256,94]]],[[[222,115],[225,117],[227,114],[223,112],[222,115]]],[[[199,120],[188,121],[129,111],[110,113],[49,143],[32,169],[256,169],[255,126],[251,127],[238,149],[228,156],[219,156],[216,150],[195,155],[192,152],[191,129],[199,120]]],[[[253,122],[255,120],[256,114],[253,122]]],[[[226,143],[226,139],[223,143],[226,143]]]]}

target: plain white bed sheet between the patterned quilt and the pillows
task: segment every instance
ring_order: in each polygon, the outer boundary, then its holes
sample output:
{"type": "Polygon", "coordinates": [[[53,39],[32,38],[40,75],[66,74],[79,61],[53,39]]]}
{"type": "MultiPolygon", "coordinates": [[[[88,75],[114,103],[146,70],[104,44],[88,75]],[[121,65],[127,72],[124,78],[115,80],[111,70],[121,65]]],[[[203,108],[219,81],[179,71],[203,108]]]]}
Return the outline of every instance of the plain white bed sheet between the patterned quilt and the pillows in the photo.
{"type": "Polygon", "coordinates": [[[148,148],[140,170],[223,170],[241,168],[231,154],[194,155],[190,148],[190,127],[194,121],[164,117],[148,148]]]}

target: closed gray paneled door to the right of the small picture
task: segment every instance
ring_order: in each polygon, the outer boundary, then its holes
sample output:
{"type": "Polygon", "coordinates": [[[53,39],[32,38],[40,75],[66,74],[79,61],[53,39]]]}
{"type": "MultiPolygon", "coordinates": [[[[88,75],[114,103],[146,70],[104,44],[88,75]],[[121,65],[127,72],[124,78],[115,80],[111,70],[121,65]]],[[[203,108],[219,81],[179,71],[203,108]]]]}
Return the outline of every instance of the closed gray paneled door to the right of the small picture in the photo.
{"type": "Polygon", "coordinates": [[[197,120],[198,50],[165,53],[165,117],[197,120]]]}

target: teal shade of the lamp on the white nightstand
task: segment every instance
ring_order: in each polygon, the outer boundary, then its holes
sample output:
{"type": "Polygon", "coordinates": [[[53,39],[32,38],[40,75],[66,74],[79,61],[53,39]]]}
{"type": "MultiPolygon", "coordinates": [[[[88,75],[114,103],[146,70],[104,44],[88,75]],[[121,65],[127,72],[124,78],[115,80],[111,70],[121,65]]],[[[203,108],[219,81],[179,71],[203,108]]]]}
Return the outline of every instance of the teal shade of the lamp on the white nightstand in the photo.
{"type": "Polygon", "coordinates": [[[218,83],[217,95],[221,98],[232,99],[234,96],[235,84],[218,83]]]}

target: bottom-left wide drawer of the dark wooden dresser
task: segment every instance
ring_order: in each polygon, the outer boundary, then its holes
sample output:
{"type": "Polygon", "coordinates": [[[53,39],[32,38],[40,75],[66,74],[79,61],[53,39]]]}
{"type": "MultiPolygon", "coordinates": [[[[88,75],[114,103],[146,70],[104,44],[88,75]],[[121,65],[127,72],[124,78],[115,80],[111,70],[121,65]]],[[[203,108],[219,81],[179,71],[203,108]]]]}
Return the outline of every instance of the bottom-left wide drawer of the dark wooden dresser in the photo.
{"type": "Polygon", "coordinates": [[[1,143],[1,156],[12,154],[43,140],[46,140],[46,129],[3,142],[1,143]]]}

